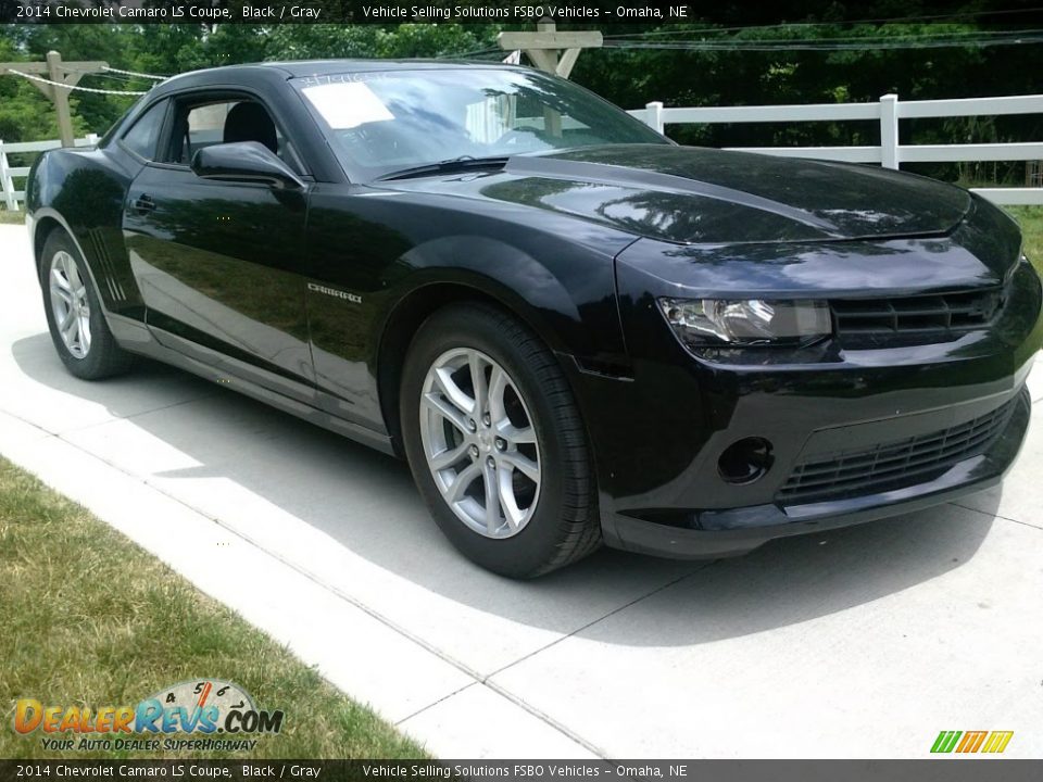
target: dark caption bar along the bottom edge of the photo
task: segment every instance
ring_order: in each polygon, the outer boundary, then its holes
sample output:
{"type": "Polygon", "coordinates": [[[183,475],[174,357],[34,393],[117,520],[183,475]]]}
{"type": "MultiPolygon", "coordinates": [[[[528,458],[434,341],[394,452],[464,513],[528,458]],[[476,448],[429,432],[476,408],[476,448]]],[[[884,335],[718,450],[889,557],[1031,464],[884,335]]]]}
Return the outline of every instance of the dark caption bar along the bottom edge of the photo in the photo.
{"type": "Polygon", "coordinates": [[[1043,760],[0,760],[0,780],[1038,782],[1043,760]]]}

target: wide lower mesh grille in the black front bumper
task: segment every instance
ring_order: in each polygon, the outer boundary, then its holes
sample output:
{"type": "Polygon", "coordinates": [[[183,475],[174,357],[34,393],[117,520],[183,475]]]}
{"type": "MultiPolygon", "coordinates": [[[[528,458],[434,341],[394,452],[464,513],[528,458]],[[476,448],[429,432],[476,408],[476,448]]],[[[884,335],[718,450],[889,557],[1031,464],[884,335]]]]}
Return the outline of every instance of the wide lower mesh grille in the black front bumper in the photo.
{"type": "Polygon", "coordinates": [[[992,413],[941,431],[799,464],[777,499],[796,505],[933,480],[957,462],[989,450],[1010,420],[1016,403],[1017,398],[992,413]]]}

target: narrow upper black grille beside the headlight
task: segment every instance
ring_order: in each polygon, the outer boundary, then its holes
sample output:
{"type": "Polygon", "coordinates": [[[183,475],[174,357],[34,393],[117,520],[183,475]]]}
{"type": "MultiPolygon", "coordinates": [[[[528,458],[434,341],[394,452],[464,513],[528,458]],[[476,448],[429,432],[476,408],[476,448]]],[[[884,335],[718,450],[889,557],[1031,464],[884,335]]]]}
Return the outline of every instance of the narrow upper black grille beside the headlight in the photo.
{"type": "Polygon", "coordinates": [[[834,299],[829,302],[837,333],[895,335],[984,326],[1003,306],[1000,288],[893,299],[834,299]]]}

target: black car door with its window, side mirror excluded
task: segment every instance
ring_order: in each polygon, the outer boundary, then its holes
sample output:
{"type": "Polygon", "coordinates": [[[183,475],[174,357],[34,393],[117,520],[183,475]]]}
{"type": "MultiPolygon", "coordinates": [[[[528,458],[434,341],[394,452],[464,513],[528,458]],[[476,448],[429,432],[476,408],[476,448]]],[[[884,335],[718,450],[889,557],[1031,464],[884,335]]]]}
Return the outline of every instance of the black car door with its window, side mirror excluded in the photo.
{"type": "Polygon", "coordinates": [[[124,238],[155,339],[306,403],[314,374],[304,312],[307,189],[197,176],[191,156],[267,146],[306,177],[267,106],[249,94],[175,99],[159,153],[134,179],[124,238]]]}

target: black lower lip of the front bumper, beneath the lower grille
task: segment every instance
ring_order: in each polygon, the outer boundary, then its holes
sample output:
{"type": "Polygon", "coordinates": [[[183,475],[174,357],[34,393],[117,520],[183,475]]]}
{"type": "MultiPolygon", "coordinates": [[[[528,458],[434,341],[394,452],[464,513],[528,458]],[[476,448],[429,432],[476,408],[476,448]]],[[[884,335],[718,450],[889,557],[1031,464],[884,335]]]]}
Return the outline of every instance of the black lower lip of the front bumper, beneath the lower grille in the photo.
{"type": "MultiPolygon", "coordinates": [[[[614,514],[603,519],[608,545],[677,559],[737,556],[776,538],[806,534],[920,510],[998,483],[1025,440],[1031,400],[1023,387],[1010,400],[1014,409],[984,453],[956,463],[943,475],[902,489],[806,505],[766,504],[693,513],[699,529],[614,514]]],[[[901,428],[902,420],[895,421],[901,428]]]]}

